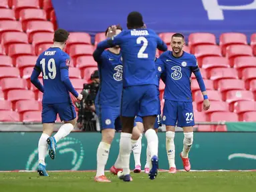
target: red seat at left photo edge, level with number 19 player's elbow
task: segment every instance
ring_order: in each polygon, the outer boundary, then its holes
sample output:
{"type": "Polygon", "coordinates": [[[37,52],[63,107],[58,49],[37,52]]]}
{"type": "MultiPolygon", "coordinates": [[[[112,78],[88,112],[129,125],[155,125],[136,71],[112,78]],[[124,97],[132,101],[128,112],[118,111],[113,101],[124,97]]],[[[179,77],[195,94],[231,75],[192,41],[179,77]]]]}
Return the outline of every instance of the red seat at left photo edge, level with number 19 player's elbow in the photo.
{"type": "Polygon", "coordinates": [[[25,79],[5,78],[1,80],[1,87],[3,91],[9,91],[11,89],[27,89],[27,82],[25,79]]]}

